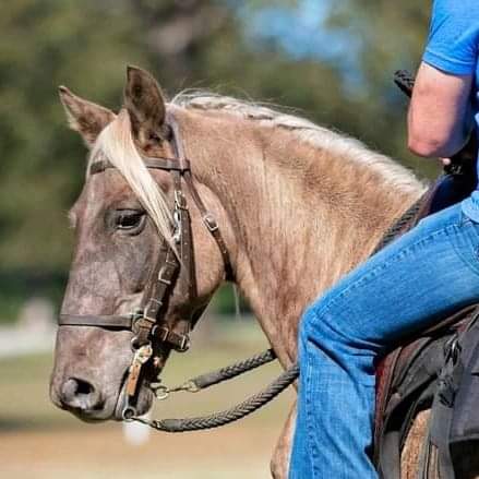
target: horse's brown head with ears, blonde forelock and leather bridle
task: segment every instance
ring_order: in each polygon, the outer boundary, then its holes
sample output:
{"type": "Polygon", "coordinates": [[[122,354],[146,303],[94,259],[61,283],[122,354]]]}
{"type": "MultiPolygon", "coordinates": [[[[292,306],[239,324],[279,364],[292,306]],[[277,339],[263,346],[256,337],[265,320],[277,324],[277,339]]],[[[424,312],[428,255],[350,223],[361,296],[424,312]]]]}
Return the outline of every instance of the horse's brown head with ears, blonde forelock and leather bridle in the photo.
{"type": "MultiPolygon", "coordinates": [[[[191,176],[184,189],[188,159],[178,158],[178,125],[152,75],[128,69],[118,115],[65,87],[60,98],[70,127],[91,152],[83,190],[70,212],[76,244],[50,396],[84,420],[121,419],[132,360],[139,347],[151,346],[131,394],[142,415],[154,397],[149,383],[171,349],[185,349],[189,328],[225,279],[226,244],[220,236],[217,243],[213,216],[191,176]],[[197,207],[190,207],[194,203],[197,207]],[[175,267],[161,279],[168,261],[175,267]],[[156,315],[161,328],[152,331],[156,315]],[[160,340],[152,340],[153,334],[160,340]]],[[[207,193],[202,196],[207,200],[207,193]]]]}

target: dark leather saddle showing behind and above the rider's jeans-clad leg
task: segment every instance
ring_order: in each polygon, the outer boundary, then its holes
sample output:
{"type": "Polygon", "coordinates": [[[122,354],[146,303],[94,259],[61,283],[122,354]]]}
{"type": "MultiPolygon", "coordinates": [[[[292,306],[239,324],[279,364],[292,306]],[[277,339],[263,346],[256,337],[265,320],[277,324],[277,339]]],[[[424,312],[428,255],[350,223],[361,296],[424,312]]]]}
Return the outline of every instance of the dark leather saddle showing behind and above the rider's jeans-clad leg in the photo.
{"type": "MultiPolygon", "coordinates": [[[[463,163],[442,176],[394,237],[467,197],[476,188],[474,163],[463,163]]],[[[414,419],[431,408],[418,477],[459,477],[455,457],[460,455],[460,444],[479,440],[478,405],[479,303],[444,318],[378,363],[374,460],[380,476],[400,478],[400,454],[414,419]]]]}

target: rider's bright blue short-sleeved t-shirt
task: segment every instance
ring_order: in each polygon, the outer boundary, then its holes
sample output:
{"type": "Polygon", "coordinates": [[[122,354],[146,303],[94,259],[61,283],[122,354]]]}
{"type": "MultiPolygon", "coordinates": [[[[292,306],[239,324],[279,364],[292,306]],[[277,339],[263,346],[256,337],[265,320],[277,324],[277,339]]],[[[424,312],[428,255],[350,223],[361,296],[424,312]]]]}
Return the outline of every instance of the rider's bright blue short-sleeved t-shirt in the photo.
{"type": "MultiPolygon", "coordinates": [[[[428,45],[422,60],[446,73],[475,75],[471,103],[479,128],[479,0],[434,0],[428,45]]],[[[479,171],[479,168],[478,168],[479,171]]],[[[479,191],[463,202],[479,223],[479,191]]]]}

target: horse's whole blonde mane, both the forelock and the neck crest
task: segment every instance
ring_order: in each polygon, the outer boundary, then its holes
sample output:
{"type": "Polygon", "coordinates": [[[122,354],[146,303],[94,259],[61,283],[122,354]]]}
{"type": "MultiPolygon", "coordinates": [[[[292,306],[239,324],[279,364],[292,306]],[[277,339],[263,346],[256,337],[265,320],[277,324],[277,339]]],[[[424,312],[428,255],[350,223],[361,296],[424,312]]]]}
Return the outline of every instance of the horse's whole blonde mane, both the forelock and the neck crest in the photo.
{"type": "MultiPolygon", "coordinates": [[[[244,120],[258,121],[264,127],[285,129],[292,132],[298,140],[314,147],[330,151],[345,160],[361,163],[380,173],[392,187],[405,193],[417,192],[420,187],[410,171],[390,157],[369,149],[360,141],[267,106],[208,93],[180,93],[171,100],[171,105],[203,111],[224,111],[244,120]]],[[[98,136],[92,151],[91,161],[98,156],[106,157],[118,168],[152,217],[159,235],[173,246],[168,200],[156,184],[134,145],[127,110],[121,110],[98,136]]]]}

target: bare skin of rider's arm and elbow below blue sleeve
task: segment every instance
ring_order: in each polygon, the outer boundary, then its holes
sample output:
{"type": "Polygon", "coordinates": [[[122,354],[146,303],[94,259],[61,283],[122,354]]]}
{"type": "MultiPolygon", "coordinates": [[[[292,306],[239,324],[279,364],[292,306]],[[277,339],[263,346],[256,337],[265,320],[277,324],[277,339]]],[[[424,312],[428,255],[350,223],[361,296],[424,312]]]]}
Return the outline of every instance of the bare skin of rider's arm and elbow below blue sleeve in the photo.
{"type": "Polygon", "coordinates": [[[474,76],[445,73],[422,63],[408,113],[408,146],[427,157],[450,157],[472,128],[470,92],[474,76]]]}

